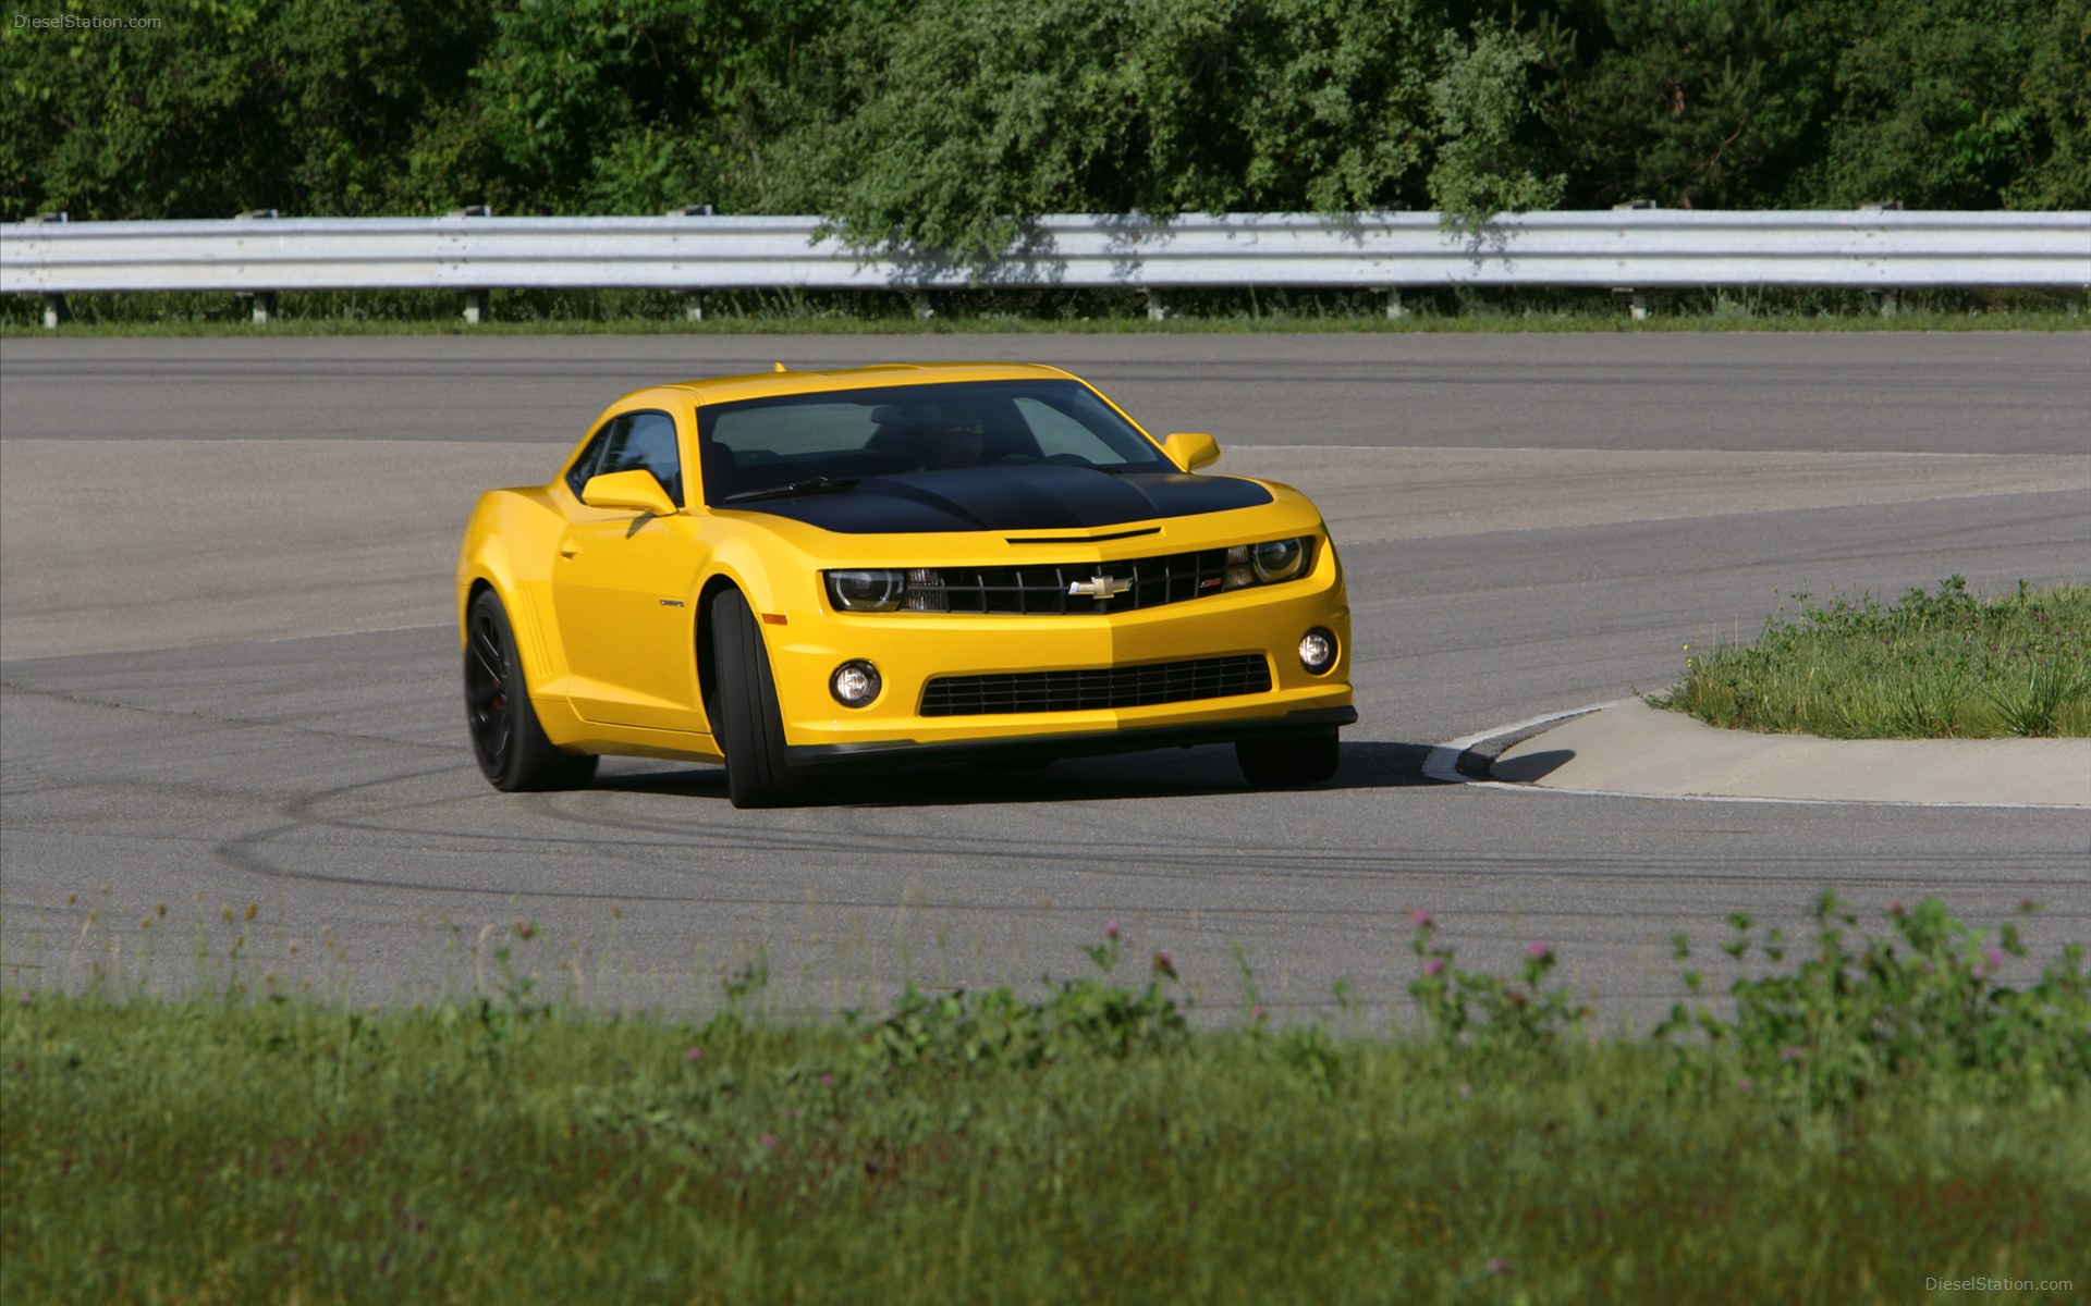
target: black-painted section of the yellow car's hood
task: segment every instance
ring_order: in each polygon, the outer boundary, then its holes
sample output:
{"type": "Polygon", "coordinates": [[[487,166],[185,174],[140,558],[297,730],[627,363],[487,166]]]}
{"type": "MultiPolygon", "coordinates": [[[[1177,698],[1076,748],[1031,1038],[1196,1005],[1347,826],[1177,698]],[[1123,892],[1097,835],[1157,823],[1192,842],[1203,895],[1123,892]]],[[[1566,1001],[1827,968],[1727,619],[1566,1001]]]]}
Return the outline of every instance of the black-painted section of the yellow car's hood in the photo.
{"type": "Polygon", "coordinates": [[[843,535],[939,531],[1083,531],[1269,504],[1238,476],[1098,472],[1075,466],[953,468],[866,476],[841,493],[732,504],[843,535]]]}

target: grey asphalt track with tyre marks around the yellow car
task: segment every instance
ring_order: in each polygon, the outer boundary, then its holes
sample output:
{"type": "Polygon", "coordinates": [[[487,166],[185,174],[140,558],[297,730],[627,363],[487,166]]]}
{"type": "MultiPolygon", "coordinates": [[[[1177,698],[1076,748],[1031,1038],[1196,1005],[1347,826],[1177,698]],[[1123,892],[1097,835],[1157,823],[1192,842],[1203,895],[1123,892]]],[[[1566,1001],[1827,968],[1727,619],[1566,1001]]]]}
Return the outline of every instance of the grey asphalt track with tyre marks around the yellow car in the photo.
{"type": "Polygon", "coordinates": [[[0,495],[8,986],[188,978],[247,903],[240,965],[280,984],[412,997],[531,919],[516,961],[548,982],[671,1007],[753,949],[792,1009],[1071,976],[1106,919],[1209,1009],[1240,1001],[1240,942],[1265,1005],[1347,978],[1363,1020],[1414,974],[1420,907],[1476,965],[1552,942],[1621,1020],[1681,995],[1673,932],[1710,953],[1733,909],[1794,932],[1823,886],[1982,922],[2035,899],[2039,951],[2091,938],[2087,811],[1420,771],[1660,687],[1782,593],[2083,581],[2087,334],[4,341],[0,495]],[[443,625],[477,489],[548,476],[631,384],[924,357],[1064,364],[1322,497],[1363,715],[1334,784],[1246,792],[1223,750],[878,775],[786,813],[730,809],[705,767],[481,782],[443,625]]]}

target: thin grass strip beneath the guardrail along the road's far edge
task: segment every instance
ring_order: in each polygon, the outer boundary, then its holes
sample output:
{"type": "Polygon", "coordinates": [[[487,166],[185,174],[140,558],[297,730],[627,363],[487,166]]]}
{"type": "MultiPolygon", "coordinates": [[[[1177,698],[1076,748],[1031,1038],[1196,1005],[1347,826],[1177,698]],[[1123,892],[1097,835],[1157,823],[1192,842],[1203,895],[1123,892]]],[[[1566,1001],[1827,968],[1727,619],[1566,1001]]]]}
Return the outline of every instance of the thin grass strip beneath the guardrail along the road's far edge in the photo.
{"type": "Polygon", "coordinates": [[[44,330],[42,301],[6,297],[0,336],[332,336],[332,334],[870,334],[870,332],[1671,332],[1671,330],[2087,330],[2081,295],[2043,290],[1909,293],[1882,316],[1859,290],[1694,290],[1650,299],[1646,322],[1606,290],[1409,290],[1386,318],[1378,293],[1215,288],[1169,293],[1148,322],[1138,290],[939,290],[916,316],[899,293],[740,290],[707,297],[686,322],[680,295],[652,290],[502,290],[491,320],[468,326],[458,295],[284,293],[253,326],[234,295],[71,295],[73,320],[44,330]]]}

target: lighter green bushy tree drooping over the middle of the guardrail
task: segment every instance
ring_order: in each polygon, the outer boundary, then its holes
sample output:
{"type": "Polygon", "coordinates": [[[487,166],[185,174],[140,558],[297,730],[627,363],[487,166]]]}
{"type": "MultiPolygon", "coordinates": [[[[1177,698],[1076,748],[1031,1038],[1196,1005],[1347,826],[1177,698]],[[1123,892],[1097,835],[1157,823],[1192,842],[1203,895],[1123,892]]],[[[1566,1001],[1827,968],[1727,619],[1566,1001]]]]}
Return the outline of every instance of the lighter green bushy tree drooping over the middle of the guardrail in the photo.
{"type": "Polygon", "coordinates": [[[1524,38],[1422,0],[928,0],[822,42],[769,203],[985,261],[1054,211],[1552,199],[1518,157],[1524,38]],[[1441,155],[1441,144],[1449,148],[1441,155]]]}

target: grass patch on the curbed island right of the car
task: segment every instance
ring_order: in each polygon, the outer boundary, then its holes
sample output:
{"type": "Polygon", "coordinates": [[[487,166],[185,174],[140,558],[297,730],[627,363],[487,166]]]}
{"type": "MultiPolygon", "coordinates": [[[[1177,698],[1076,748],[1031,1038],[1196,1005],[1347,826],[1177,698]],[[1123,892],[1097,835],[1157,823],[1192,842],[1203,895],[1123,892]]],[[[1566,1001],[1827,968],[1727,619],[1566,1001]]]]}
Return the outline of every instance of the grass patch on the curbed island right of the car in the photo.
{"type": "Polygon", "coordinates": [[[2091,587],[1978,598],[1961,577],[1892,606],[1794,596],[1754,644],[1685,646],[1652,704],[1836,740],[2091,736],[2091,587]]]}

